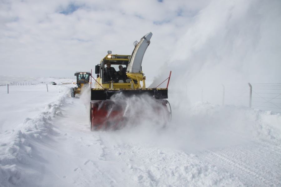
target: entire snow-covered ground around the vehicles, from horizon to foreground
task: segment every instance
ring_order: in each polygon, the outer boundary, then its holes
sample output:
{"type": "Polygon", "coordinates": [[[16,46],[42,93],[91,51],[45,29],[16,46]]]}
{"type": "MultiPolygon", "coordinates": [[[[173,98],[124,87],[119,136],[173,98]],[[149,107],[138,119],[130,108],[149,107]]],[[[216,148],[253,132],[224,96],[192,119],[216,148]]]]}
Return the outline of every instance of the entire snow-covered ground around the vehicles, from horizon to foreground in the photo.
{"type": "Polygon", "coordinates": [[[172,92],[166,128],[91,132],[89,93],[71,98],[72,81],[0,87],[1,187],[281,186],[280,114],[172,92]]]}

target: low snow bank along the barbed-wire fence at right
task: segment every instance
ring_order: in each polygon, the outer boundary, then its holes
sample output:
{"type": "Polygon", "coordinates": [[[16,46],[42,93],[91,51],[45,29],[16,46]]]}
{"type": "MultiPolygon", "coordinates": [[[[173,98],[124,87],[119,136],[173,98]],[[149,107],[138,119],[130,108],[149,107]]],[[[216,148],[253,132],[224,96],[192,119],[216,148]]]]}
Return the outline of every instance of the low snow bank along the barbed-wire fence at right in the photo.
{"type": "Polygon", "coordinates": [[[244,137],[281,139],[281,114],[261,111],[244,106],[212,105],[197,103],[190,110],[190,117],[205,118],[212,128],[222,128],[244,137]]]}

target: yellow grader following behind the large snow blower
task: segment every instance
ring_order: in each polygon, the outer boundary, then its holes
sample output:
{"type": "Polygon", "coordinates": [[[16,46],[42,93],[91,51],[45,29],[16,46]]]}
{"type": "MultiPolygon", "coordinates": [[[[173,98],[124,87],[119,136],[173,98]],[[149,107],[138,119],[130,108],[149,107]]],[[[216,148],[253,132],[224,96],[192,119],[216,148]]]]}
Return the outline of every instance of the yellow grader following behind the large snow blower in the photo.
{"type": "Polygon", "coordinates": [[[77,93],[81,93],[82,89],[85,89],[91,84],[91,82],[89,82],[91,77],[90,72],[76,72],[74,76],[76,76],[76,82],[73,84],[77,86],[70,89],[71,97],[75,97],[77,93]]]}

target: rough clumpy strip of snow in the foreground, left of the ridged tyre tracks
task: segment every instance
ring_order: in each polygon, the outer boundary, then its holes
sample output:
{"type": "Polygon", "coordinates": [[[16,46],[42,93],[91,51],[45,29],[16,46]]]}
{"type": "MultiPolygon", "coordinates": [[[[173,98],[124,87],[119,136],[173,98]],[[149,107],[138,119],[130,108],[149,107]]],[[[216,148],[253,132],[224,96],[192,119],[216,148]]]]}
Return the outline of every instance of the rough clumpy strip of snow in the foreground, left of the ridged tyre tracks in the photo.
{"type": "Polygon", "coordinates": [[[106,155],[124,163],[124,172],[134,186],[213,186],[241,185],[227,172],[200,161],[195,155],[180,150],[151,147],[145,144],[108,140],[106,155]]]}

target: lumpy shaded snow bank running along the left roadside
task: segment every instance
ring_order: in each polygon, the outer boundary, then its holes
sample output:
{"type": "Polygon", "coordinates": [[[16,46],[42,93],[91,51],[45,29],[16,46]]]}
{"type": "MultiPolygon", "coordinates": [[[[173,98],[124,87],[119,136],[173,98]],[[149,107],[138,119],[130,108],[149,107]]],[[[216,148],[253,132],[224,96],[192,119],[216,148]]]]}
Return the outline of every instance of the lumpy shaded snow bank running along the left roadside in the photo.
{"type": "Polygon", "coordinates": [[[56,134],[52,119],[61,115],[60,107],[65,103],[69,92],[66,87],[59,89],[59,94],[53,99],[55,101],[47,104],[42,112],[33,118],[26,118],[21,126],[1,133],[0,186],[18,185],[40,177],[41,174],[32,167],[23,171],[19,165],[36,165],[36,160],[41,155],[34,148],[34,143],[44,142],[50,135],[56,134]]]}

